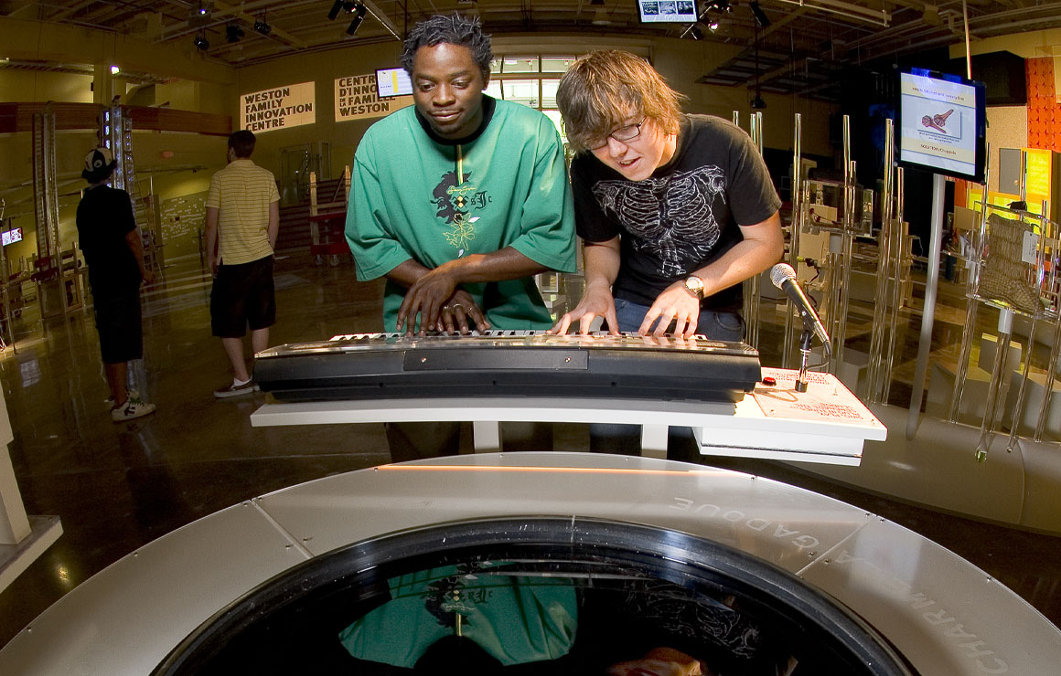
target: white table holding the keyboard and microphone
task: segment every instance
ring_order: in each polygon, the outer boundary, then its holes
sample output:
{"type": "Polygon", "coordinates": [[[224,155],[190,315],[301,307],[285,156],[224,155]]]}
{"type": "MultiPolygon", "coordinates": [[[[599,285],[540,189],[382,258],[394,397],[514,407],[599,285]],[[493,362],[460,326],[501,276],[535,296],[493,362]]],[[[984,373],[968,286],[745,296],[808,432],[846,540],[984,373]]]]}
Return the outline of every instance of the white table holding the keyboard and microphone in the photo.
{"type": "Polygon", "coordinates": [[[832,374],[811,373],[806,392],[796,371],[763,369],[776,386],[760,386],[737,404],[627,398],[437,397],[265,404],[255,427],[471,421],[476,452],[502,449],[501,422],[641,425],[642,453],[665,458],[667,429],[692,427],[706,456],[857,465],[863,443],[888,430],[832,374]]]}

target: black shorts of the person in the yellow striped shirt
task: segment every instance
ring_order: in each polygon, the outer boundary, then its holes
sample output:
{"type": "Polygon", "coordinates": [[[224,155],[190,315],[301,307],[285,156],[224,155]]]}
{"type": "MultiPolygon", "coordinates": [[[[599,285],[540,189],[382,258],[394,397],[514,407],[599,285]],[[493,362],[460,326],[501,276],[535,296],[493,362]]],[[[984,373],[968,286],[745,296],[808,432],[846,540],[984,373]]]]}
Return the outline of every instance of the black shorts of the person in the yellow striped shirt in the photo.
{"type": "Polygon", "coordinates": [[[242,338],[276,323],[273,256],[240,265],[219,265],[210,290],[210,327],[221,338],[242,338]]]}

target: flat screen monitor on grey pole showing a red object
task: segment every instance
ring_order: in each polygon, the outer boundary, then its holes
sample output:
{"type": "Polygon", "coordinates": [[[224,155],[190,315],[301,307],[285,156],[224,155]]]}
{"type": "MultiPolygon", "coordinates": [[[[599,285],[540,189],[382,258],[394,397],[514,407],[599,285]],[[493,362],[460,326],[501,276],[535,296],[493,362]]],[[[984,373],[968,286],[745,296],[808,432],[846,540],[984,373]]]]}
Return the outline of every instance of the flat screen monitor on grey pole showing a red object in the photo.
{"type": "Polygon", "coordinates": [[[984,182],[984,83],[924,69],[899,74],[899,163],[984,182]]]}

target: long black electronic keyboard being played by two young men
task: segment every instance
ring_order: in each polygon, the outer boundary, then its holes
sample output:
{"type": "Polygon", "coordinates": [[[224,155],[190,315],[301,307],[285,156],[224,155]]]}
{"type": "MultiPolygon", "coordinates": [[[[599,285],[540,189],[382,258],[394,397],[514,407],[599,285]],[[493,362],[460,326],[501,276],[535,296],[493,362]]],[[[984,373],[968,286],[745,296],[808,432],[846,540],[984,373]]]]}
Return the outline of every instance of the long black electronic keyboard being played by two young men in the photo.
{"type": "Polygon", "coordinates": [[[255,383],[279,401],[428,396],[623,397],[740,402],[759,352],[703,336],[346,334],[269,348],[255,383]]]}

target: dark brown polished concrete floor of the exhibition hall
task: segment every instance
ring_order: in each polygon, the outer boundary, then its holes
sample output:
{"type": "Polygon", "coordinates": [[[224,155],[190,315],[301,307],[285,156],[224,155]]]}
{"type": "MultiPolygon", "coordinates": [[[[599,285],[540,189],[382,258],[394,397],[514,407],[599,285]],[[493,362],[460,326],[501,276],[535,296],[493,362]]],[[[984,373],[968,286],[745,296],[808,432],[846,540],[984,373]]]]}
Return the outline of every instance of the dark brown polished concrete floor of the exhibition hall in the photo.
{"type": "MultiPolygon", "coordinates": [[[[278,260],[276,281],[273,344],[381,328],[382,286],[356,282],[350,265],[317,267],[292,254],[278,260]]],[[[58,515],[64,535],[0,592],[0,645],[93,573],[185,523],[269,491],[388,462],[382,426],[251,428],[248,416],[264,395],[215,399],[211,391],[229,374],[210,336],[209,289],[195,259],[175,262],[144,292],[144,389],[158,411],[131,423],[110,422],[90,312],[40,321],[31,306],[15,321],[15,350],[0,356],[15,474],[28,512],[58,515]]],[[[953,340],[953,326],[938,331],[953,340]]],[[[765,324],[764,364],[778,366],[765,346],[776,342],[779,331],[765,324]]],[[[892,395],[902,391],[898,384],[892,395]]],[[[558,426],[555,447],[586,450],[588,432],[558,426]]],[[[712,464],[803,485],[916,530],[1061,624],[1061,538],[923,510],[770,463],[712,464]]]]}

